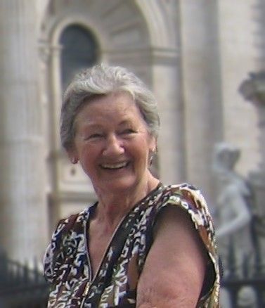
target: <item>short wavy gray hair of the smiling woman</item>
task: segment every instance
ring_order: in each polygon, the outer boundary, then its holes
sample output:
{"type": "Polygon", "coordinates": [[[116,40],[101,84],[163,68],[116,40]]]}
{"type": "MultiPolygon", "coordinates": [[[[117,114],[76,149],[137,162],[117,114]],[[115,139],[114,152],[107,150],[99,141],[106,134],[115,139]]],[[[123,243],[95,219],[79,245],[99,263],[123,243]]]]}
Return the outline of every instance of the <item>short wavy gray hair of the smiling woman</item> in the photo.
{"type": "Polygon", "coordinates": [[[75,117],[80,108],[97,96],[117,92],[132,96],[148,131],[158,136],[160,119],[157,101],[146,84],[126,68],[99,64],[79,72],[65,90],[60,115],[60,139],[66,150],[71,148],[75,138],[75,117]]]}

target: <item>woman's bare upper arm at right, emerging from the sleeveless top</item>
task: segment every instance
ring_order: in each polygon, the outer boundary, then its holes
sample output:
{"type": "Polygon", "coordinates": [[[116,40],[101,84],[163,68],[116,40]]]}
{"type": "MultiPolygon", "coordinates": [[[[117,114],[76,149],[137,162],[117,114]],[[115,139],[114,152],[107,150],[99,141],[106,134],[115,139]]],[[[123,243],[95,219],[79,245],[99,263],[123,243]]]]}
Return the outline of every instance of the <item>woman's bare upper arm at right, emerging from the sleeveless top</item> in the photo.
{"type": "Polygon", "coordinates": [[[188,213],[167,206],[155,224],[153,245],[138,281],[136,307],[196,307],[207,252],[188,213]]]}

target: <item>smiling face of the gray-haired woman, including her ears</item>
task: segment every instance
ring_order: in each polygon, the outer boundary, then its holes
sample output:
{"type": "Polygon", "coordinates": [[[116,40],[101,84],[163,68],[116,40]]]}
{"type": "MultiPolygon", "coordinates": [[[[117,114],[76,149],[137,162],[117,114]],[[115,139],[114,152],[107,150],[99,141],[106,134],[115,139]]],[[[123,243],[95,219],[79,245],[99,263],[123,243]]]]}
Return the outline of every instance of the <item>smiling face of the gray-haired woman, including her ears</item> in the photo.
{"type": "Polygon", "coordinates": [[[75,119],[70,157],[78,159],[96,191],[124,191],[148,179],[155,137],[128,94],[110,94],[84,105],[75,119]]]}

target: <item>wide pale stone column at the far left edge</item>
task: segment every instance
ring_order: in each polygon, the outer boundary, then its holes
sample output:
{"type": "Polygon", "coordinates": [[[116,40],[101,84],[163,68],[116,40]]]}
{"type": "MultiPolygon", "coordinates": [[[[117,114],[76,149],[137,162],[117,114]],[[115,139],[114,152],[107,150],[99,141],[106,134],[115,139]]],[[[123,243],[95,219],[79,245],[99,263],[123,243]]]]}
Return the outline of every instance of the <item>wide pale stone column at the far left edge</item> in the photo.
{"type": "Polygon", "coordinates": [[[8,257],[47,243],[35,0],[0,1],[0,240],[8,257]]]}

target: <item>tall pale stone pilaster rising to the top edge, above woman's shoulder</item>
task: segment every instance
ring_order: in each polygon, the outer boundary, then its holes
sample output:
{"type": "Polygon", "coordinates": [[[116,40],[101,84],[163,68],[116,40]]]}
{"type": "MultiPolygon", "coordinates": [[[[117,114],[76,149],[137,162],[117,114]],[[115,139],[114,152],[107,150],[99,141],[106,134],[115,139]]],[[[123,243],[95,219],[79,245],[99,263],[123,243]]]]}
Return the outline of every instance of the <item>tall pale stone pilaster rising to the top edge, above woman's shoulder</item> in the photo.
{"type": "Polygon", "coordinates": [[[214,143],[224,139],[220,16],[216,1],[179,1],[179,8],[186,172],[212,206],[212,152],[214,143]]]}

